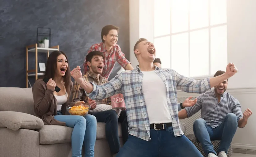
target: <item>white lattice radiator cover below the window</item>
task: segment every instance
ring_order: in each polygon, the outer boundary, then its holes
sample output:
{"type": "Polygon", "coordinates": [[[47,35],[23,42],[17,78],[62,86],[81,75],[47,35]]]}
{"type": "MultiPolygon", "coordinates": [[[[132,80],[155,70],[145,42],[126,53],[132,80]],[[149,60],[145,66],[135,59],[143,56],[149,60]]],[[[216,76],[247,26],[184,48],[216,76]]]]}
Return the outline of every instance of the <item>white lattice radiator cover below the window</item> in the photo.
{"type": "MultiPolygon", "coordinates": [[[[178,103],[182,103],[187,98],[188,97],[183,97],[183,96],[178,97],[178,103]]],[[[194,100],[195,98],[197,98],[197,97],[193,96],[191,100],[194,100]]],[[[194,121],[198,118],[201,118],[201,111],[198,111],[197,113],[195,113],[193,116],[191,116],[189,118],[179,120],[181,122],[186,123],[186,133],[185,133],[185,135],[194,134],[193,124],[194,124],[194,121]]]]}

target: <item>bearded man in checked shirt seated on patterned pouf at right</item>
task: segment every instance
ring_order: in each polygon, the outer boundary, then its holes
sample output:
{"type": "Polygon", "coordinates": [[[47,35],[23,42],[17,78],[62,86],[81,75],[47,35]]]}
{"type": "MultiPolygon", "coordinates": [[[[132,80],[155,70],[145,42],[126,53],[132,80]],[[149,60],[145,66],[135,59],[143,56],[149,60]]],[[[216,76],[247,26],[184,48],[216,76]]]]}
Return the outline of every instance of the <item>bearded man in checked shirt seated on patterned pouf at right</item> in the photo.
{"type": "MultiPolygon", "coordinates": [[[[219,70],[214,77],[224,73],[219,70]]],[[[252,114],[249,108],[242,113],[239,101],[226,92],[227,86],[228,79],[225,79],[213,90],[198,96],[197,103],[193,107],[186,107],[179,112],[179,119],[184,119],[201,110],[202,118],[194,122],[193,130],[208,157],[217,157],[217,154],[218,157],[227,157],[237,126],[245,127],[252,114]],[[214,151],[211,140],[221,140],[218,153],[214,151]]]]}

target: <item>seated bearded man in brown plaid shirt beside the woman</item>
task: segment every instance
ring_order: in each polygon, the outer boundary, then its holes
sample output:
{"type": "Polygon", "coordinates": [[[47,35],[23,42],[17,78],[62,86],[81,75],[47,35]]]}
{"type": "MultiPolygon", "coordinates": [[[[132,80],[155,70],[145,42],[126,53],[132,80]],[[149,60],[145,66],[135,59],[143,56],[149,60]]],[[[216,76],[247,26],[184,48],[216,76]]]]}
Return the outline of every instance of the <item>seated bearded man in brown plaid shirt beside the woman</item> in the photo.
{"type": "MultiPolygon", "coordinates": [[[[92,51],[86,56],[87,65],[89,66],[89,71],[84,74],[83,80],[86,82],[93,82],[97,85],[102,85],[108,82],[108,80],[101,76],[102,69],[103,69],[103,60],[104,55],[100,51],[92,51]]],[[[84,101],[86,104],[91,105],[91,111],[96,108],[96,105],[99,104],[111,104],[111,100],[109,97],[103,98],[102,100],[91,100],[87,97],[84,89],[75,81],[74,86],[71,90],[72,102],[75,101],[84,101]]],[[[105,107],[101,107],[100,109],[104,110],[105,107]]],[[[100,110],[99,109],[99,110],[100,110]]],[[[122,138],[123,142],[125,143],[128,138],[128,123],[126,117],[126,111],[118,110],[117,112],[113,109],[106,108],[107,111],[101,112],[90,112],[88,114],[92,114],[96,117],[97,122],[105,122],[106,123],[106,138],[109,143],[111,153],[117,154],[120,146],[119,136],[118,136],[118,122],[121,123],[122,128],[122,138]],[[121,112],[121,113],[120,113],[121,112]]],[[[96,108],[96,110],[98,110],[96,108]]]]}

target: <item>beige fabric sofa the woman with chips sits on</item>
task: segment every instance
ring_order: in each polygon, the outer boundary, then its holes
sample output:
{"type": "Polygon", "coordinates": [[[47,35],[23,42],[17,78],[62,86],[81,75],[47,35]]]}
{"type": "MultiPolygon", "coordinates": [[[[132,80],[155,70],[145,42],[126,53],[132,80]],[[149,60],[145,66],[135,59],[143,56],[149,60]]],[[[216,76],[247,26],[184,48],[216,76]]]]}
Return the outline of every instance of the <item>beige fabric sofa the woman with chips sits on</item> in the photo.
{"type": "MultiPolygon", "coordinates": [[[[32,88],[0,87],[0,157],[71,157],[73,128],[43,125],[33,110],[32,88]]],[[[97,123],[95,157],[112,157],[105,123],[97,123]]]]}

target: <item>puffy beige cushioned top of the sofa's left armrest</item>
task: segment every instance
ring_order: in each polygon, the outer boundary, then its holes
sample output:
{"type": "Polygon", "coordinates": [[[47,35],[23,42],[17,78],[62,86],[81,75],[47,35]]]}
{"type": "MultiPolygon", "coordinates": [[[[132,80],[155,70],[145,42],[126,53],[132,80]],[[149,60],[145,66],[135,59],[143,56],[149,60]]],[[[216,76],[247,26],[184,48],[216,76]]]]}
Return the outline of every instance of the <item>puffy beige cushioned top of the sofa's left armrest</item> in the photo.
{"type": "Polygon", "coordinates": [[[14,111],[0,112],[0,127],[6,127],[12,130],[18,129],[40,129],[44,122],[31,114],[14,111]]]}

